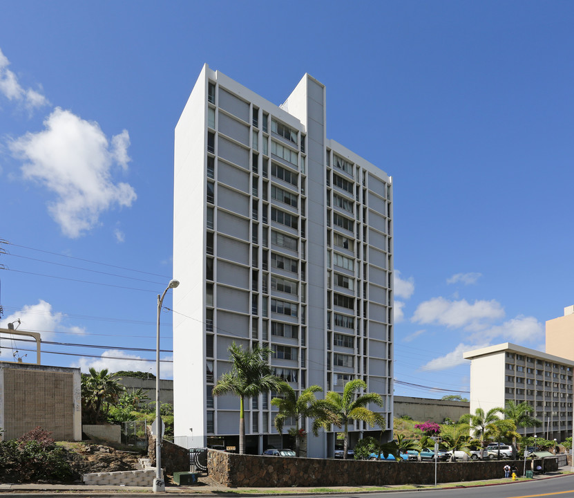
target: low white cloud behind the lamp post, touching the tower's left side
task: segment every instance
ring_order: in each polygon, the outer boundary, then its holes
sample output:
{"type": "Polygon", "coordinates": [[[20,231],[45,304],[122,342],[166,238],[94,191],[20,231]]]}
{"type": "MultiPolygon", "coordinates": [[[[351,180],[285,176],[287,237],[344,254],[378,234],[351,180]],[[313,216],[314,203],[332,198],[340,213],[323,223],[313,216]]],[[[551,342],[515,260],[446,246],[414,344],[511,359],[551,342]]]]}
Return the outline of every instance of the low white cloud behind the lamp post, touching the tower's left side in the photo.
{"type": "MultiPolygon", "coordinates": [[[[162,357],[162,360],[171,361],[173,356],[162,357]]],[[[149,371],[155,375],[155,360],[142,361],[141,356],[128,354],[118,349],[108,349],[102,353],[100,358],[79,358],[75,367],[80,367],[83,372],[95,368],[97,371],[108,369],[112,373],[120,370],[149,371]]],[[[162,379],[173,378],[173,363],[162,361],[160,370],[162,379]]]]}

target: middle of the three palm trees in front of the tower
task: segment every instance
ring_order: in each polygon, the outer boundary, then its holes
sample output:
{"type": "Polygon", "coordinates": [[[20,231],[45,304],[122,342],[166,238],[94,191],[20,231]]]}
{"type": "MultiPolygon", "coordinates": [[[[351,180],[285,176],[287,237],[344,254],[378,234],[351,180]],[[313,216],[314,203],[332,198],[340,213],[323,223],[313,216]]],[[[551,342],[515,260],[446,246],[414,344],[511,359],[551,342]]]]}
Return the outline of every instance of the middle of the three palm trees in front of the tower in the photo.
{"type": "Polygon", "coordinates": [[[295,427],[293,431],[295,436],[295,452],[299,456],[300,452],[300,423],[305,418],[313,418],[312,431],[315,436],[318,436],[318,428],[321,425],[316,421],[318,418],[325,417],[325,400],[317,400],[315,398],[316,392],[322,392],[323,389],[318,385],[307,387],[304,391],[297,396],[296,391],[287,384],[283,391],[282,398],[273,398],[271,405],[278,407],[279,412],[275,416],[275,428],[279,434],[283,434],[283,425],[287,418],[294,418],[295,427]]]}

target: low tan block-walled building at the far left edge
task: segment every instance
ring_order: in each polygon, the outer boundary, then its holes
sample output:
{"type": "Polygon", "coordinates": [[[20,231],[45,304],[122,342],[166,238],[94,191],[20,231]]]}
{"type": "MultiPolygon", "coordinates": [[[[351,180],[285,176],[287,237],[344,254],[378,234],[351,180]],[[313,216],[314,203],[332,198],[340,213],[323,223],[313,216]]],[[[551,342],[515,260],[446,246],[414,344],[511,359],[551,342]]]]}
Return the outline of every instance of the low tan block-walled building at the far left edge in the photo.
{"type": "Polygon", "coordinates": [[[82,439],[80,370],[0,362],[0,438],[38,426],[57,441],[82,439]]]}

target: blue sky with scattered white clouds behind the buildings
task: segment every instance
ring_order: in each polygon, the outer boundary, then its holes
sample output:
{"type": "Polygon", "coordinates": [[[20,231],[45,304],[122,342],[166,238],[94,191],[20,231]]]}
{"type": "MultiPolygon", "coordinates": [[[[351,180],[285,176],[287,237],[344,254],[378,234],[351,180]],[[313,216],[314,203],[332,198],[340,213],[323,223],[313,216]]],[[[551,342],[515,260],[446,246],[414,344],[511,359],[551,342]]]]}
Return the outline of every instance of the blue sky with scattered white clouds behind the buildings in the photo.
{"type": "Polygon", "coordinates": [[[45,365],[155,371],[202,65],[276,104],[307,72],[327,137],[394,179],[395,377],[423,386],[395,394],[468,396],[462,351],[543,350],[574,304],[573,25],[568,1],[4,1],[0,325],[57,343],[45,365]]]}

